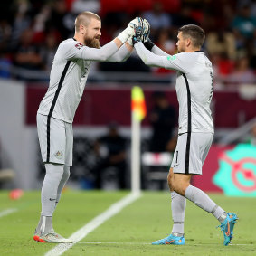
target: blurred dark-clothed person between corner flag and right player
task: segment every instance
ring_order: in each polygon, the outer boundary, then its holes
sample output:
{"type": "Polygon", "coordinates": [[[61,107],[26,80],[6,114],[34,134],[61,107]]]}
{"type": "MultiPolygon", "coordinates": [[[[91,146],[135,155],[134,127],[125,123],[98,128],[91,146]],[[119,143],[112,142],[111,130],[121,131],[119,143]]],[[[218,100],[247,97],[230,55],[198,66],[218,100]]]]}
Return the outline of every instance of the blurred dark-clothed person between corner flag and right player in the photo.
{"type": "Polygon", "coordinates": [[[166,94],[162,91],[154,92],[153,99],[155,106],[149,114],[149,121],[153,129],[149,150],[151,152],[166,152],[175,128],[175,108],[169,104],[166,94]]]}

